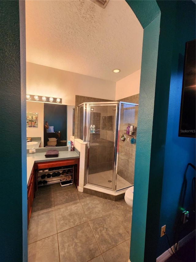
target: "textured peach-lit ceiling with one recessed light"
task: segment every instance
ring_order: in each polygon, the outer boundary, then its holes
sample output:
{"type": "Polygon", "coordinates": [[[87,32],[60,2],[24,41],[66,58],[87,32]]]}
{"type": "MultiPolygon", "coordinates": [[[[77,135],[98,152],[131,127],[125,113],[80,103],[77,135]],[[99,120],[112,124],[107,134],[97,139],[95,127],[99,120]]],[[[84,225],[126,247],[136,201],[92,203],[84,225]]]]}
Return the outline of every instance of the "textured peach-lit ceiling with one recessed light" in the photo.
{"type": "Polygon", "coordinates": [[[143,29],[125,0],[25,5],[28,62],[115,82],[141,68],[143,29]]]}

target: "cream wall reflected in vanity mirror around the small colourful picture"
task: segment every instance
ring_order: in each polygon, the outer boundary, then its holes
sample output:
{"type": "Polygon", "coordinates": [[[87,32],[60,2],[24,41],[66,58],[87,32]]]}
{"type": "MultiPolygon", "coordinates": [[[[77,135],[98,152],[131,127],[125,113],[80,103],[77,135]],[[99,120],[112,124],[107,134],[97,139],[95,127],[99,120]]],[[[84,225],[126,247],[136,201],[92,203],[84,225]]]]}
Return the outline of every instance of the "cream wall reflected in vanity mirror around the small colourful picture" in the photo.
{"type": "Polygon", "coordinates": [[[43,103],[27,101],[27,112],[38,113],[38,126],[27,127],[27,137],[41,137],[43,147],[43,103]]]}

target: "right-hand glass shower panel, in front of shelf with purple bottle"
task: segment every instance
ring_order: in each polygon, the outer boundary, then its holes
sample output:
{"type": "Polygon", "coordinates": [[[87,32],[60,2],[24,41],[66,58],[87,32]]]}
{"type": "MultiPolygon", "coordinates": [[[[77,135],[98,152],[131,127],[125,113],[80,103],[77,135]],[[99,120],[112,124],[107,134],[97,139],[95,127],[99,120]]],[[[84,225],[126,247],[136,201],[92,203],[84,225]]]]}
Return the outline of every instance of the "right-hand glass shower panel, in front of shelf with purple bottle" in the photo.
{"type": "Polygon", "coordinates": [[[138,105],[120,102],[118,119],[118,147],[116,190],[121,190],[134,184],[135,151],[138,123],[138,105]],[[129,132],[127,131],[127,127],[129,132]],[[125,140],[122,139],[124,136],[125,140]]]}

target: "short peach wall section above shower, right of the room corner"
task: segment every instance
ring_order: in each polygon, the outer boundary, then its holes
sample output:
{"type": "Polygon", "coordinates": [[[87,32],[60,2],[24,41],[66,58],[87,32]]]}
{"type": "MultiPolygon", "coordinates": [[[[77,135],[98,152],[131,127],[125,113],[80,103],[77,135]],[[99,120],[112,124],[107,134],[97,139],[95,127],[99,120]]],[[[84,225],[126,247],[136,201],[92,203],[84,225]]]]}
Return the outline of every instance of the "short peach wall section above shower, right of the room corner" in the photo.
{"type": "Polygon", "coordinates": [[[141,69],[116,82],[115,100],[133,96],[140,92],[141,69]]]}

